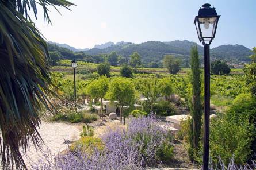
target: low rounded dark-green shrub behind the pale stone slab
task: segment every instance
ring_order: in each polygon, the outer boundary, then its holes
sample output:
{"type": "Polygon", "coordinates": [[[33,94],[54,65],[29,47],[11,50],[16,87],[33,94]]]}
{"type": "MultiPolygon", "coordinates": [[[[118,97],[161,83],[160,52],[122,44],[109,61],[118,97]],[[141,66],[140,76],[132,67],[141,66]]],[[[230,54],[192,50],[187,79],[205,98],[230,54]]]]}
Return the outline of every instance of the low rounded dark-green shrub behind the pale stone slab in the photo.
{"type": "Polygon", "coordinates": [[[157,115],[176,115],[178,114],[178,110],[174,106],[173,103],[169,101],[159,101],[158,103],[155,103],[153,106],[153,110],[156,112],[157,115]]]}

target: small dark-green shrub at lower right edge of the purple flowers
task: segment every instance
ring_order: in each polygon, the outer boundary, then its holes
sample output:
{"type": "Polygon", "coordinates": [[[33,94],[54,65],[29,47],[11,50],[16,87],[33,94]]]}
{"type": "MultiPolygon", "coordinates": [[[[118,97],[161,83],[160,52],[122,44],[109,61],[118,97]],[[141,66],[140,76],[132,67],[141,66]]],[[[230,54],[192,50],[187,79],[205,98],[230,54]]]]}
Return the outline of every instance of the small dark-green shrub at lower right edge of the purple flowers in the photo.
{"type": "Polygon", "coordinates": [[[156,152],[156,156],[161,161],[170,161],[174,156],[173,149],[173,145],[170,142],[166,141],[160,146],[158,152],[156,152]]]}

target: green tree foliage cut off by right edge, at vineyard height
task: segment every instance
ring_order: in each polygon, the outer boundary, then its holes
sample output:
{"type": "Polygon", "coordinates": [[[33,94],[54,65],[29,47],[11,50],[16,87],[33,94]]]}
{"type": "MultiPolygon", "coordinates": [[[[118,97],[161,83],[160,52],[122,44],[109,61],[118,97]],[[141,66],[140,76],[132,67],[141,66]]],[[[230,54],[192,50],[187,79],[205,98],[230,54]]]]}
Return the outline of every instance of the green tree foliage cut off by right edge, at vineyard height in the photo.
{"type": "Polygon", "coordinates": [[[249,86],[251,94],[253,94],[253,96],[256,97],[256,63],[255,61],[251,64],[246,64],[244,66],[244,76],[246,79],[246,85],[249,86]]]}

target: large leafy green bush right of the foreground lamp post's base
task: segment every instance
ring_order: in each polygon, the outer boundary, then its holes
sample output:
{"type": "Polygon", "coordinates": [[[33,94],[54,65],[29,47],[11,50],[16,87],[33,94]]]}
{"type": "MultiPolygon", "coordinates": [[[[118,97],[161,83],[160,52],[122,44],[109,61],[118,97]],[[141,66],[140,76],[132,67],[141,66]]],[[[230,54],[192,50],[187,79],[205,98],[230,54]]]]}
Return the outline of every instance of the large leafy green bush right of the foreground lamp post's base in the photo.
{"type": "Polygon", "coordinates": [[[210,123],[210,154],[213,162],[221,157],[227,165],[234,156],[235,163],[243,164],[251,155],[254,127],[248,119],[239,122],[231,121],[228,117],[217,117],[210,123]]]}

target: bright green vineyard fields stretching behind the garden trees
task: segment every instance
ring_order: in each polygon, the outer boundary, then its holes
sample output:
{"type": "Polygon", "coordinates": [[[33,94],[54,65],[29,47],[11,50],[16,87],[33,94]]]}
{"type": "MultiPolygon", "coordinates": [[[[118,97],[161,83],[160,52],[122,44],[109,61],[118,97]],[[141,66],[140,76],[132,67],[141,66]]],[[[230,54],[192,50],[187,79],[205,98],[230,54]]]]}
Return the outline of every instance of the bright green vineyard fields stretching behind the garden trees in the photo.
{"type": "MultiPolygon", "coordinates": [[[[60,66],[51,68],[52,79],[57,87],[59,87],[60,94],[64,98],[72,99],[74,91],[74,75],[73,69],[70,67],[70,60],[60,60],[60,66]]],[[[109,80],[120,76],[120,67],[110,68],[109,80]]],[[[168,74],[164,68],[140,68],[140,72],[133,74],[131,80],[146,78],[148,81],[154,78],[162,79],[168,78],[175,89],[175,94],[182,98],[187,98],[190,91],[188,75],[189,69],[182,69],[177,75],[168,74]]],[[[216,106],[231,105],[232,100],[239,94],[248,91],[243,76],[242,69],[232,69],[230,75],[211,75],[211,102],[216,106]],[[235,74],[232,74],[235,72],[235,74]]],[[[97,74],[97,64],[86,63],[78,61],[77,68],[77,95],[78,98],[86,96],[86,86],[95,79],[99,78],[97,74]]],[[[202,77],[203,82],[203,77],[202,77]]],[[[202,83],[202,95],[203,95],[202,83]]]]}

